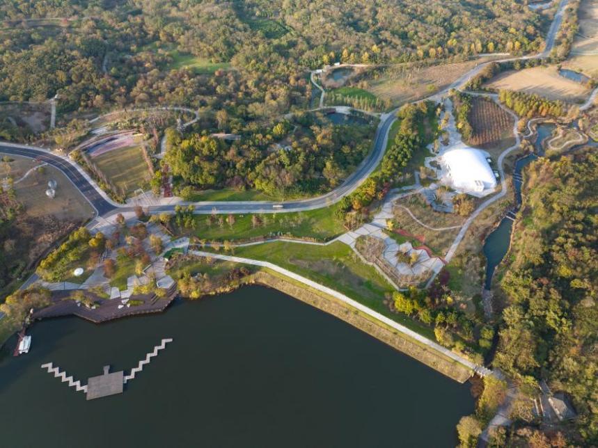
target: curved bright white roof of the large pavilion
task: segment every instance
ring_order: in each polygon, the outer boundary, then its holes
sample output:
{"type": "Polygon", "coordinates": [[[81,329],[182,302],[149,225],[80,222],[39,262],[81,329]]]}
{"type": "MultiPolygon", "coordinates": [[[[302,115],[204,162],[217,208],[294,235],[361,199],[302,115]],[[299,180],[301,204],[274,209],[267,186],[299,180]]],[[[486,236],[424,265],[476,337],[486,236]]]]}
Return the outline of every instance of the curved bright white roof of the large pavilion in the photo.
{"type": "Polygon", "coordinates": [[[442,154],[442,161],[455,189],[479,192],[496,187],[494,172],[480,150],[456,147],[442,154]]]}

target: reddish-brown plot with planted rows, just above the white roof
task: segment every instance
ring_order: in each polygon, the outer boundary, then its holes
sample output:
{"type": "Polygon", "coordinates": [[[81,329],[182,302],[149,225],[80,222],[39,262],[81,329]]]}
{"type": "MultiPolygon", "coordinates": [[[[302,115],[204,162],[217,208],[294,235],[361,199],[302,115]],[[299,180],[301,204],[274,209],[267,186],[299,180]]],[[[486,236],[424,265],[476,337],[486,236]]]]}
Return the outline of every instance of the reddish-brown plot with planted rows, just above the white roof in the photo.
{"type": "Polygon", "coordinates": [[[513,118],[494,101],[473,97],[468,120],[473,132],[466,143],[487,150],[495,159],[515,144],[513,118]]]}

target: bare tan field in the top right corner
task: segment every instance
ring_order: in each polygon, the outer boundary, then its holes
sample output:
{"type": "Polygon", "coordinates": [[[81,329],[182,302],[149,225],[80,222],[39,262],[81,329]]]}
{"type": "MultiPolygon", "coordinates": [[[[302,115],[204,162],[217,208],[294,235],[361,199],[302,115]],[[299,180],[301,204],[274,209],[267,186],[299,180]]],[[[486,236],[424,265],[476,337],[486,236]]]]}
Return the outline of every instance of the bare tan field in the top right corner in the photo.
{"type": "Polygon", "coordinates": [[[598,79],[598,0],[583,0],[579,6],[579,31],[562,67],[598,79]]]}

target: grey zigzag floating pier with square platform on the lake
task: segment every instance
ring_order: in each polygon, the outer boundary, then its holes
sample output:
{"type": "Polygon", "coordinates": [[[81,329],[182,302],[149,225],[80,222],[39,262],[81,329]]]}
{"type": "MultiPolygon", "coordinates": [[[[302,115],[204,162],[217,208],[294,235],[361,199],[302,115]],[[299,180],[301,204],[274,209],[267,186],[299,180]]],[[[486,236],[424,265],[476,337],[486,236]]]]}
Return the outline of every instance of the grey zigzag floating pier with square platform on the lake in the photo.
{"type": "Polygon", "coordinates": [[[62,383],[68,383],[68,387],[74,387],[77,392],[84,392],[87,395],[88,400],[93,400],[122,393],[123,385],[125,385],[127,381],[134,379],[136,374],[143,371],[143,367],[148,365],[152,358],[155,358],[155,356],[158,355],[160,350],[166,349],[166,344],[169,342],[173,342],[171,337],[162,339],[162,342],[155,346],[153,351],[150,351],[150,353],[145,355],[145,359],[139,361],[137,367],[133,367],[128,375],[125,376],[125,372],[122,370],[110,373],[110,366],[105,366],[104,374],[88,378],[87,385],[81,385],[81,381],[74,381],[72,376],[67,376],[67,373],[61,371],[60,367],[54,367],[52,362],[42,364],[41,367],[42,369],[46,369],[49,374],[54,374],[54,378],[61,378],[62,383]]]}

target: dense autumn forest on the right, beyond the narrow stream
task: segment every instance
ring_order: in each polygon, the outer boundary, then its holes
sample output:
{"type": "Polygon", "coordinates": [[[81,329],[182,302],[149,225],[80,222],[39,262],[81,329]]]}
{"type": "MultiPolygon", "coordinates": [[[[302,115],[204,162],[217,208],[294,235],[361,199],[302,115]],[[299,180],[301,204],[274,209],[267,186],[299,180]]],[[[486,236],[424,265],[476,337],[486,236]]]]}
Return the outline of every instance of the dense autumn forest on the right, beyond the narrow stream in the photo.
{"type": "Polygon", "coordinates": [[[572,440],[598,442],[598,156],[540,159],[501,280],[507,303],[494,366],[528,389],[544,378],[579,414],[572,440]]]}

